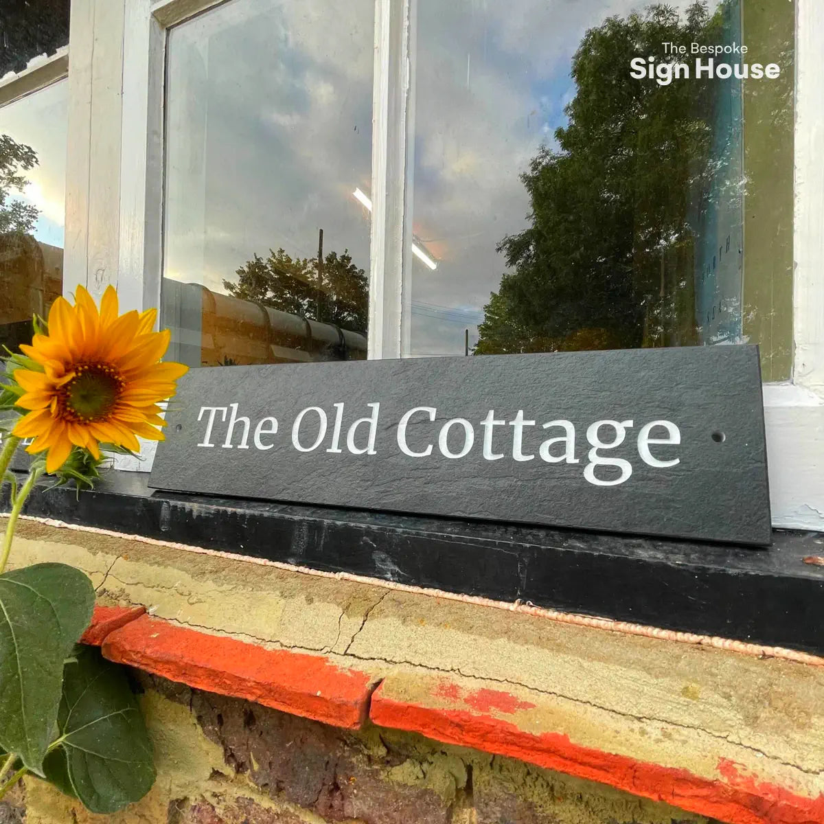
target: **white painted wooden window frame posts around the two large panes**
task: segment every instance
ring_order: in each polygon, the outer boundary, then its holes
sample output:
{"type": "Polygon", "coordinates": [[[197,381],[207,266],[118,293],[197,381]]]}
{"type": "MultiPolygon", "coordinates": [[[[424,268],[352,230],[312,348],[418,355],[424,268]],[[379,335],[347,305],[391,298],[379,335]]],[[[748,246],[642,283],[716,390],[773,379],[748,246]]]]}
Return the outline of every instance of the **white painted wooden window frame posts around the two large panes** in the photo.
{"type": "MultiPolygon", "coordinates": [[[[124,307],[159,306],[166,30],[221,2],[73,0],[67,293],[114,283],[124,307]]],[[[411,2],[375,0],[370,358],[409,348],[411,2]]],[[[764,403],[773,524],[824,531],[824,3],[795,2],[794,357],[764,403]]]]}

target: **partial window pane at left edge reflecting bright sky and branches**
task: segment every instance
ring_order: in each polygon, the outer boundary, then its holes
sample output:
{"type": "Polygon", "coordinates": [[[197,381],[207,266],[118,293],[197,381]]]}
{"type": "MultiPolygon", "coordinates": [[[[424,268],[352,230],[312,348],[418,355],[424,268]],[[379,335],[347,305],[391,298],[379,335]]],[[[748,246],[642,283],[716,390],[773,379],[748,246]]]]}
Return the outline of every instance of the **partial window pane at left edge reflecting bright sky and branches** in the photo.
{"type": "Polygon", "coordinates": [[[0,109],[0,345],[63,293],[67,81],[0,109]]]}

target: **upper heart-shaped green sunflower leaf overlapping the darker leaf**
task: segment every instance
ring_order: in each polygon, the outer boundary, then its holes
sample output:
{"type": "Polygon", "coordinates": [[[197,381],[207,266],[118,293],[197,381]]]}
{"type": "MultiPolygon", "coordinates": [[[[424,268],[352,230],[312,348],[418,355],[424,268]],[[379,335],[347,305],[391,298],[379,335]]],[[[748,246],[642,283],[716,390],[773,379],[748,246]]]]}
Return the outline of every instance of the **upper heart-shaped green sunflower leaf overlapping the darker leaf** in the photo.
{"type": "Polygon", "coordinates": [[[63,662],[94,602],[91,581],[66,564],[0,575],[0,747],[35,773],[53,737],[63,662]]]}

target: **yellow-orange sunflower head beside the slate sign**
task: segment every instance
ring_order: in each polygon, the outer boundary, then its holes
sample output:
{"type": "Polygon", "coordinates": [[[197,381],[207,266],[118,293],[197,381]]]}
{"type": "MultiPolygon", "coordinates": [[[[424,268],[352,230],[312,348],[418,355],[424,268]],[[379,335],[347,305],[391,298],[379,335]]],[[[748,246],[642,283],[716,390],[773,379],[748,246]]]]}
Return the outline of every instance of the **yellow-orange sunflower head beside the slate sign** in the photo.
{"type": "Polygon", "coordinates": [[[100,460],[101,443],[138,452],[136,435],[163,440],[158,403],[175,394],[188,367],[158,363],[170,333],[152,331],[156,318],[155,309],[118,315],[111,286],[98,311],[78,286],[74,306],[63,297],[54,301],[48,334],[21,346],[35,363],[14,372],[25,391],[16,406],[27,411],[12,435],[34,438],[26,452],[48,452],[47,472],[63,466],[72,447],[100,460]]]}

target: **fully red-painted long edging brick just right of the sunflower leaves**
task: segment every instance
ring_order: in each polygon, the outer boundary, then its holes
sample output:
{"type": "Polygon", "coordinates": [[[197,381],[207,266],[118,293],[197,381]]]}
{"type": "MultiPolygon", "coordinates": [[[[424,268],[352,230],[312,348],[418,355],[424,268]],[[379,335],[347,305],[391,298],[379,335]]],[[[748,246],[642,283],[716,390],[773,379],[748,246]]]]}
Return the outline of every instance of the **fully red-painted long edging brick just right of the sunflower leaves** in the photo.
{"type": "Polygon", "coordinates": [[[321,655],[265,649],[142,616],[103,642],[111,661],[199,690],[245,698],[335,727],[359,728],[375,679],[321,655]]]}

